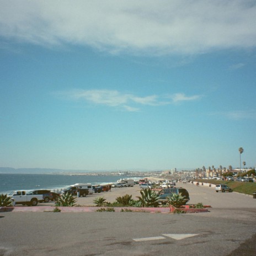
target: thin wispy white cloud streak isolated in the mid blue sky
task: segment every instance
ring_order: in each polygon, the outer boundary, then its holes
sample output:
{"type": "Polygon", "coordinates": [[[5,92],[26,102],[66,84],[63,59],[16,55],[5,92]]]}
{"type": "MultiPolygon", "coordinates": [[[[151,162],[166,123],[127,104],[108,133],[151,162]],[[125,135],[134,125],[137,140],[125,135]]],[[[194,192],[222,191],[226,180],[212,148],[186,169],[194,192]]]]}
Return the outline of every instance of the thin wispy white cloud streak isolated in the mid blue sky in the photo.
{"type": "Polygon", "coordinates": [[[84,100],[95,105],[105,105],[120,108],[126,111],[139,111],[142,106],[161,106],[177,102],[197,100],[200,95],[186,96],[184,93],[174,95],[148,95],[145,97],[130,93],[121,93],[118,90],[72,90],[58,93],[76,100],[84,100]]]}

